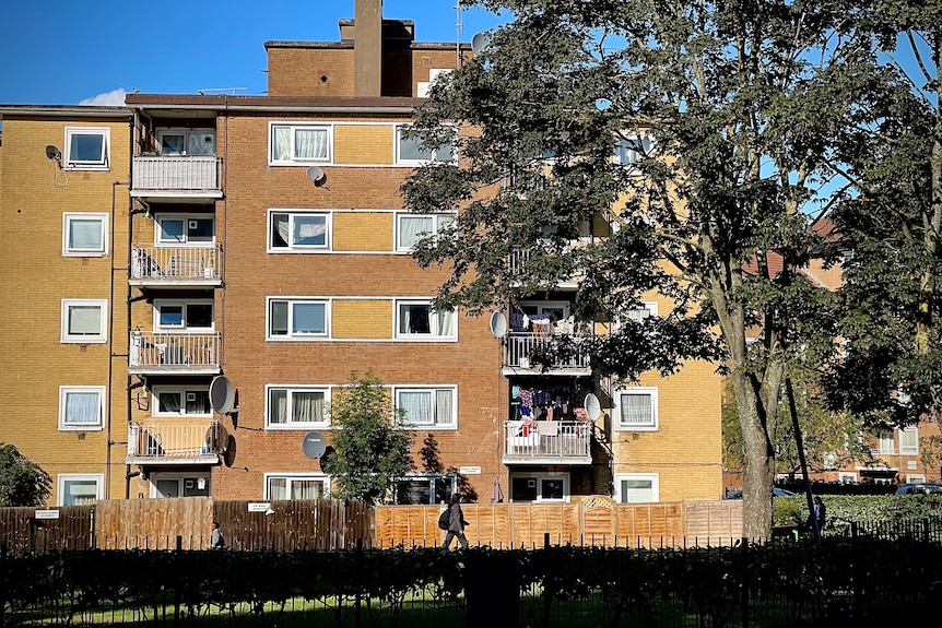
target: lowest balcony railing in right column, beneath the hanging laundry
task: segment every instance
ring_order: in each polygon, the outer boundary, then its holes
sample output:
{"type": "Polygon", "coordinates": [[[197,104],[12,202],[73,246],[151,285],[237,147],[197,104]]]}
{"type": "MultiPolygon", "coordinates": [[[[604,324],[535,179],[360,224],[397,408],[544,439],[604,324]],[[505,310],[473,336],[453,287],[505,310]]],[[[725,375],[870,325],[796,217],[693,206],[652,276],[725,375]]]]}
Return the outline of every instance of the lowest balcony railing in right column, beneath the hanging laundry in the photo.
{"type": "Polygon", "coordinates": [[[587,420],[504,422],[504,464],[591,464],[587,420]]]}

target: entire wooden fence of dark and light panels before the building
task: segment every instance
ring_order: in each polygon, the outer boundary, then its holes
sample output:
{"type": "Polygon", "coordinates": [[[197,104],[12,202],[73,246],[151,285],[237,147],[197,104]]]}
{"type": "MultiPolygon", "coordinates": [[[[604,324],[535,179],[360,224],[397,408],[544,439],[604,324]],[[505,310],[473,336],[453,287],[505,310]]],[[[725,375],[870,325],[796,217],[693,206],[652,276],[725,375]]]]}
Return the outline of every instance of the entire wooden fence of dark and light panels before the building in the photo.
{"type": "MultiPolygon", "coordinates": [[[[0,534],[15,547],[175,548],[209,546],[219,521],[233,549],[338,549],[364,546],[436,546],[443,506],[344,505],[332,499],[271,501],[270,512],[249,501],[207,497],[102,500],[94,506],[0,508],[0,534]]],[[[261,505],[261,506],[266,506],[261,505]]],[[[616,503],[602,496],[570,503],[464,503],[472,545],[532,547],[553,544],[657,547],[726,545],[742,535],[742,501],[616,503]]]]}

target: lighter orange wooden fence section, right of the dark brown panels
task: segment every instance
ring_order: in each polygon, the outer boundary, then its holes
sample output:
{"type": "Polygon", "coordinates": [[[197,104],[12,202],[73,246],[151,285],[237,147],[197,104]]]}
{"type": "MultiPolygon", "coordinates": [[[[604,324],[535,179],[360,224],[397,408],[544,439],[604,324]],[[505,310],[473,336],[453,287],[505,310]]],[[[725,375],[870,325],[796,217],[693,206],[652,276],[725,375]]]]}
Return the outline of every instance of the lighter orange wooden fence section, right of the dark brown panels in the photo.
{"type": "MultiPolygon", "coordinates": [[[[439,545],[444,506],[376,508],[375,542],[439,545]]],[[[683,544],[727,545],[742,536],[742,501],[616,503],[591,496],[570,503],[464,503],[464,530],[471,545],[532,547],[545,534],[553,544],[657,547],[683,544]]]]}

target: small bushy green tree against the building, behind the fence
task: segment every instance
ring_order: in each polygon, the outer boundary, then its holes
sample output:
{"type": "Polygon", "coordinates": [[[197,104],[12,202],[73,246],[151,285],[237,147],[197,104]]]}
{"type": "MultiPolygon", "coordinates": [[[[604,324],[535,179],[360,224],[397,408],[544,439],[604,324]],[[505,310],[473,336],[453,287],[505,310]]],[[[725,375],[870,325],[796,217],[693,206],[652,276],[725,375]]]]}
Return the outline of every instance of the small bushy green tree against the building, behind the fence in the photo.
{"type": "Polygon", "coordinates": [[[351,372],[334,392],[330,420],[338,429],[325,469],[333,476],[333,497],[375,505],[409,472],[412,437],[399,425],[401,413],[393,411],[388,390],[372,370],[363,378],[351,372]]]}

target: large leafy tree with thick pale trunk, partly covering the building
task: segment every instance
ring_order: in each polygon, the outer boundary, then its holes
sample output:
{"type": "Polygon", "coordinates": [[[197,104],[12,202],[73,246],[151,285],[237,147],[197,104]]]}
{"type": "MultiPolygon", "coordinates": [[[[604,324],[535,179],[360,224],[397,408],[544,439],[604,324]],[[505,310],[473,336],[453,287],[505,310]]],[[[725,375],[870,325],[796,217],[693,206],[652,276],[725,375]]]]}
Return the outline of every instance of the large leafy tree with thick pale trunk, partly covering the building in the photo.
{"type": "Polygon", "coordinates": [[[437,305],[481,312],[573,276],[581,320],[672,299],[599,336],[593,366],[625,379],[690,358],[726,369],[746,453],[743,530],[767,536],[782,383],[835,352],[834,295],[801,271],[822,244],[808,212],[836,146],[874,122],[893,80],[853,29],[853,4],[466,3],[513,21],[416,114],[426,147],[455,142],[461,156],[402,188],[414,211],[462,210],[455,237],[416,250],[452,270],[437,305]],[[584,225],[603,237],[572,246],[584,225]]]}

